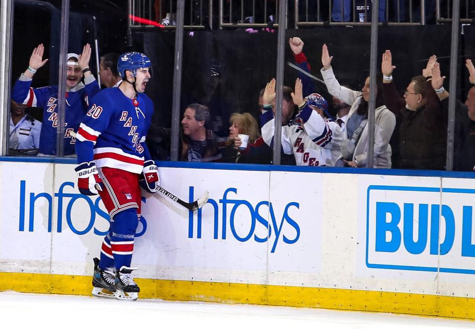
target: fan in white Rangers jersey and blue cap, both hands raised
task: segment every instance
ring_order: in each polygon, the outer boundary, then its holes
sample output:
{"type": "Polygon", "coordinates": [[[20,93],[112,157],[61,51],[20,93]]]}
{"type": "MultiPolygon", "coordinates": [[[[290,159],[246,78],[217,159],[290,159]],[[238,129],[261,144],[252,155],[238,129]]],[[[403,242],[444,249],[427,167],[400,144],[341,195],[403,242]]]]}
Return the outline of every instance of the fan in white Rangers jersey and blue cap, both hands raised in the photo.
{"type": "MultiPolygon", "coordinates": [[[[282,126],[282,149],[293,154],[297,165],[333,166],[340,155],[343,132],[330,119],[328,103],[319,94],[302,97],[302,82],[295,81],[295,92],[291,94],[294,104],[300,110],[297,117],[282,126]]],[[[275,98],[275,79],[267,83],[264,91],[264,110],[271,110],[275,98]]],[[[267,145],[273,145],[274,114],[265,111],[261,117],[262,137],[267,145]]]]}

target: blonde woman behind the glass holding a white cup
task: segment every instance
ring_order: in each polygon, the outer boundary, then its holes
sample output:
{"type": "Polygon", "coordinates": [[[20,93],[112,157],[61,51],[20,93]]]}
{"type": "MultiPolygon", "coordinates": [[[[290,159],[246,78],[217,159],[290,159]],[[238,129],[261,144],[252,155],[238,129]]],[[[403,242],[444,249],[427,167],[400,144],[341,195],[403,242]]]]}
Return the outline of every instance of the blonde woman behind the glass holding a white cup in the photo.
{"type": "MultiPolygon", "coordinates": [[[[264,142],[259,135],[257,121],[250,113],[234,113],[230,119],[229,141],[227,146],[228,154],[231,154],[231,162],[240,164],[271,164],[272,149],[264,142]],[[238,134],[249,136],[247,148],[239,150],[241,139],[238,134]]],[[[224,151],[223,151],[224,152],[224,151]]],[[[223,156],[224,158],[224,156],[223,156]]]]}

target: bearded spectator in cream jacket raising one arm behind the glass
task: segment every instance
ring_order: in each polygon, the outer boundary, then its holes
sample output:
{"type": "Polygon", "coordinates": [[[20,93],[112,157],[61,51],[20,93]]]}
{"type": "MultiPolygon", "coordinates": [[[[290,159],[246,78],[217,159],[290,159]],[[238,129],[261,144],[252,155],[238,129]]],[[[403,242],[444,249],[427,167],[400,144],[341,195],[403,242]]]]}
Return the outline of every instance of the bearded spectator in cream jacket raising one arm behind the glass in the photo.
{"type": "MultiPolygon", "coordinates": [[[[344,139],[341,146],[341,157],[337,166],[343,164],[351,167],[363,167],[368,163],[369,136],[368,136],[368,102],[370,101],[370,78],[366,78],[362,91],[355,91],[341,86],[336,80],[331,66],[332,58],[327,45],[322,47],[321,70],[328,91],[336,98],[351,105],[346,121],[344,139]]],[[[377,85],[375,110],[375,145],[373,166],[376,168],[391,167],[391,138],[396,119],[384,106],[380,84],[377,85]]]]}

